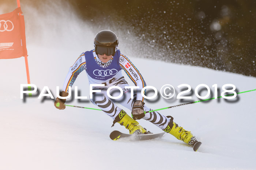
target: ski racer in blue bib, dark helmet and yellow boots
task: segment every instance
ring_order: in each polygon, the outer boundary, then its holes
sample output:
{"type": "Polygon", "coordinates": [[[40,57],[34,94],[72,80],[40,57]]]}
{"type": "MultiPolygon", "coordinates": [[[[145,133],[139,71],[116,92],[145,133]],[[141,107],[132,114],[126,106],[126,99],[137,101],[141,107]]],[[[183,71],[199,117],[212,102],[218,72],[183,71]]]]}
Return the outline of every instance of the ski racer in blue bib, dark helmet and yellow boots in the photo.
{"type": "MultiPolygon", "coordinates": [[[[94,47],[94,50],[83,52],[75,64],[69,68],[60,96],[68,96],[68,87],[72,87],[80,72],[86,70],[89,84],[105,85],[104,87],[95,87],[94,89],[100,89],[101,92],[94,92],[93,99],[90,100],[114,120],[113,125],[116,122],[120,123],[129,130],[130,134],[149,134],[150,131],[136,121],[145,119],[189,145],[193,146],[197,142],[192,133],[173,122],[171,116],[164,116],[157,111],[144,114],[144,111],[151,110],[145,105],[144,98],[140,93],[146,83],[139,70],[127,56],[117,50],[118,37],[114,32],[110,30],[98,32],[94,38],[94,47]],[[139,92],[133,95],[133,99],[131,98],[131,89],[125,88],[129,85],[122,75],[122,70],[136,86],[139,86],[139,92]],[[123,98],[118,100],[118,103],[132,111],[132,118],[122,108],[116,106],[116,100],[108,97],[107,89],[112,86],[123,89],[123,98]]],[[[65,109],[65,101],[66,99],[56,98],[54,106],[60,110],[65,109]]]]}

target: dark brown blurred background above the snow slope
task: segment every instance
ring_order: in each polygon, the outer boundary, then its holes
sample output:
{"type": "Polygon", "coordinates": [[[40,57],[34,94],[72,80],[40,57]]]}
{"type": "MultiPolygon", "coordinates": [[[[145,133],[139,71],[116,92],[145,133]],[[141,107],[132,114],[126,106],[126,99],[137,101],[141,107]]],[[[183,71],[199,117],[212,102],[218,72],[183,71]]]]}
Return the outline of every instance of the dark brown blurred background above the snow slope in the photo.
{"type": "Polygon", "coordinates": [[[66,1],[94,30],[127,37],[143,58],[256,77],[255,0],[66,1]]]}

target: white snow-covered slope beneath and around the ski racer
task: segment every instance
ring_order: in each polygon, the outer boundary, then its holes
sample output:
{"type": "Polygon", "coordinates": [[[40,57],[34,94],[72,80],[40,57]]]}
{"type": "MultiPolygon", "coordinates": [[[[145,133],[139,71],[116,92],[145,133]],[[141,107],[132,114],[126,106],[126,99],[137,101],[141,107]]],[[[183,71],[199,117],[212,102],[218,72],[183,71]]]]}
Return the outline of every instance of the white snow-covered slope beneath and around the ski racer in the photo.
{"type": "MultiPolygon", "coordinates": [[[[26,28],[30,30],[34,24],[29,18],[33,16],[26,15],[29,10],[25,9],[26,28]]],[[[37,85],[39,92],[48,86],[56,97],[56,86],[62,87],[68,68],[79,54],[93,48],[96,32],[85,27],[86,24],[81,26],[79,20],[59,27],[63,23],[59,15],[43,19],[47,23],[53,18],[60,19],[55,25],[59,31],[42,27],[44,43],[28,32],[27,49],[31,83],[37,85]]],[[[147,85],[158,91],[164,84],[172,84],[179,92],[177,86],[184,83],[192,90],[199,84],[207,84],[212,94],[213,84],[218,84],[220,91],[228,83],[234,84],[239,92],[256,88],[253,77],[138,58],[139,55],[132,54],[139,52],[125,48],[125,37],[120,34],[119,38],[120,50],[139,69],[147,85]]],[[[37,99],[35,95],[24,102],[20,99],[20,84],[26,84],[24,58],[0,60],[0,76],[1,170],[255,169],[256,91],[238,94],[233,103],[221,98],[160,111],[172,115],[176,123],[202,141],[200,149],[194,152],[169,134],[143,142],[112,141],[111,131],[128,132],[118,124],[111,128],[112,119],[101,111],[74,107],[57,110],[54,100],[37,99]]],[[[79,87],[83,96],[89,96],[85,72],[78,76],[74,86],[79,87]]],[[[191,95],[194,101],[199,100],[194,93],[191,95]]],[[[157,109],[190,101],[166,100],[160,96],[146,104],[157,109]]],[[[95,108],[89,100],[73,100],[68,104],[95,108]]],[[[153,133],[161,132],[146,120],[139,123],[153,133]]]]}

